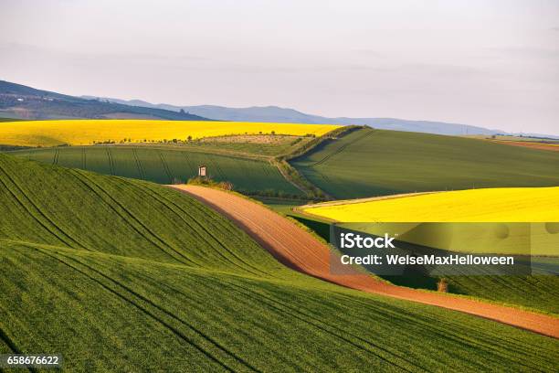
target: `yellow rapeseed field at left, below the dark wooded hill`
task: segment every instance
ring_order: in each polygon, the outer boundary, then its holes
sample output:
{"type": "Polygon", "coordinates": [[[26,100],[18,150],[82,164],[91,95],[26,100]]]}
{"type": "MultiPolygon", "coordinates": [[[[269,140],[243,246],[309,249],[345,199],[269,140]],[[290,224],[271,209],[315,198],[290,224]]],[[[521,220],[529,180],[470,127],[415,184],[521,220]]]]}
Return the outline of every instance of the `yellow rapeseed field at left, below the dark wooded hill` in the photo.
{"type": "Polygon", "coordinates": [[[89,145],[130,139],[132,143],[185,141],[227,134],[278,133],[320,136],[338,125],[153,120],[61,120],[0,123],[0,144],[21,146],[89,145]]]}

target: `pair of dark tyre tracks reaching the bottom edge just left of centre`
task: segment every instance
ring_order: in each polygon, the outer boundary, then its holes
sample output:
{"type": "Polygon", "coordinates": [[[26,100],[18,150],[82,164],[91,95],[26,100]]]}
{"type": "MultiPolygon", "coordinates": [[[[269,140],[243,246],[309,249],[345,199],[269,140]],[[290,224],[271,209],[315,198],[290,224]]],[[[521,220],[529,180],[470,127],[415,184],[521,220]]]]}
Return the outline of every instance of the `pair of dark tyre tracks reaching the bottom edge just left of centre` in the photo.
{"type": "MultiPolygon", "coordinates": [[[[124,294],[122,294],[121,292],[118,292],[115,289],[112,289],[109,285],[107,285],[106,283],[103,283],[102,281],[100,281],[99,279],[93,277],[90,273],[79,269],[76,265],[72,265],[70,264],[68,261],[63,261],[60,258],[58,258],[58,256],[53,255],[52,253],[48,253],[46,252],[46,250],[42,250],[42,249],[37,249],[39,251],[41,251],[43,254],[47,255],[50,258],[53,258],[59,262],[61,262],[62,264],[68,266],[69,268],[71,268],[72,270],[79,272],[81,274],[83,274],[84,276],[86,276],[87,278],[89,278],[91,281],[96,282],[98,284],[100,284],[100,286],[104,289],[106,289],[107,291],[109,291],[110,293],[113,293],[114,295],[116,295],[117,297],[121,298],[121,300],[123,300],[124,302],[126,302],[127,304],[131,304],[133,307],[138,308],[139,310],[141,310],[144,314],[147,314],[148,316],[152,317],[154,321],[160,323],[161,325],[165,326],[167,329],[169,329],[175,336],[178,336],[179,338],[183,339],[186,343],[188,343],[190,346],[194,346],[199,352],[201,352],[202,354],[204,354],[206,357],[208,357],[209,359],[211,359],[212,361],[214,361],[215,363],[217,363],[219,366],[221,366],[222,368],[227,369],[228,371],[234,372],[236,371],[234,368],[230,368],[225,362],[221,361],[220,359],[218,359],[215,355],[211,354],[209,351],[207,351],[203,346],[199,346],[194,338],[192,338],[191,336],[186,336],[185,333],[181,332],[180,330],[178,330],[176,327],[174,327],[173,325],[171,325],[169,322],[163,320],[163,318],[161,317],[161,315],[156,314],[153,311],[150,311],[146,306],[139,304],[139,302],[134,301],[133,299],[131,299],[131,297],[126,296],[124,294]]],[[[178,316],[176,316],[175,314],[165,310],[162,306],[153,303],[152,300],[150,300],[149,298],[143,296],[140,293],[135,292],[134,290],[132,290],[129,286],[111,278],[110,276],[106,275],[103,272],[100,272],[99,270],[91,267],[90,265],[79,261],[76,258],[73,258],[65,253],[61,253],[61,252],[57,252],[57,254],[59,256],[64,257],[65,259],[69,260],[69,261],[73,261],[75,263],[78,263],[80,266],[87,268],[90,272],[96,273],[97,275],[99,275],[101,278],[112,282],[117,288],[121,288],[122,290],[124,290],[127,293],[132,294],[132,296],[140,299],[143,303],[148,304],[150,306],[152,306],[155,310],[157,310],[158,312],[165,314],[166,316],[168,316],[169,318],[173,319],[175,322],[178,322],[181,325],[185,325],[188,329],[190,329],[196,336],[206,340],[206,342],[212,346],[214,346],[216,349],[220,350],[222,353],[224,353],[227,357],[233,358],[234,360],[236,360],[238,363],[242,364],[243,366],[245,366],[246,368],[249,368],[252,371],[259,371],[257,368],[252,367],[247,361],[245,361],[242,357],[237,357],[236,354],[232,353],[231,351],[229,351],[225,346],[222,346],[219,342],[217,342],[216,340],[214,340],[214,338],[212,338],[211,336],[207,336],[204,332],[202,332],[201,330],[197,329],[195,326],[190,325],[188,323],[186,323],[183,319],[179,318],[178,316]]]]}

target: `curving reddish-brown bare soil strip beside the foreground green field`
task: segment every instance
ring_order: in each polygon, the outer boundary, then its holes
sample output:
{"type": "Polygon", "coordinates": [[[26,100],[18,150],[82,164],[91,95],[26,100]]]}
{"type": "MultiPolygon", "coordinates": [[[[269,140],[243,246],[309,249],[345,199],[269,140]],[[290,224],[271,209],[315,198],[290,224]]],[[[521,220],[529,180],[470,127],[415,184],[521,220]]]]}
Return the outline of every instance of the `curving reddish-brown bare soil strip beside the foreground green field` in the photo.
{"type": "Polygon", "coordinates": [[[329,248],[289,219],[246,198],[237,197],[224,191],[197,186],[170,187],[188,193],[227,218],[231,218],[241,229],[247,231],[253,239],[269,250],[278,261],[299,272],[367,293],[437,305],[559,338],[559,319],[552,316],[443,293],[417,291],[380,282],[372,276],[358,272],[344,275],[332,274],[329,248]]]}

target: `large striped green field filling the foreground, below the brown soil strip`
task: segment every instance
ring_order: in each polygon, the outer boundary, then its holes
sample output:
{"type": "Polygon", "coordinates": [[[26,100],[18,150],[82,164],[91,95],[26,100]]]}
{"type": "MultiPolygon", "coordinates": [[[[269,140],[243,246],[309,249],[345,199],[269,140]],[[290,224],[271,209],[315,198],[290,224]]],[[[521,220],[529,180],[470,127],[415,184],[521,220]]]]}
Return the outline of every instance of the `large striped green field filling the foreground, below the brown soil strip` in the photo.
{"type": "Polygon", "coordinates": [[[0,200],[0,353],[62,353],[68,371],[559,364],[554,338],[292,272],[152,183],[0,155],[0,200]]]}

